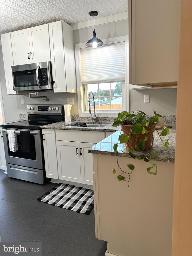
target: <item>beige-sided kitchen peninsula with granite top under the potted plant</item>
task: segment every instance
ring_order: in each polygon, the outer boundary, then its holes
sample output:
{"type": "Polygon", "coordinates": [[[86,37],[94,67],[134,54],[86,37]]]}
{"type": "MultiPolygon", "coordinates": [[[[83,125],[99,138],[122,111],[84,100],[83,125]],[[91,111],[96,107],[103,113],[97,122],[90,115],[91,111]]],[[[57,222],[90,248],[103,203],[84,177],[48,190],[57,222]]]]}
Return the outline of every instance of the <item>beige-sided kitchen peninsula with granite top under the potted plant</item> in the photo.
{"type": "Polygon", "coordinates": [[[173,183],[175,127],[170,128],[170,149],[161,146],[154,133],[154,151],[159,158],[158,174],[146,172],[144,161],[130,158],[125,145],[119,146],[118,162],[123,170],[134,164],[130,184],[118,181],[117,157],[113,151],[119,131],[97,143],[93,154],[95,232],[98,239],[108,242],[106,256],[171,256],[173,222],[173,183]]]}

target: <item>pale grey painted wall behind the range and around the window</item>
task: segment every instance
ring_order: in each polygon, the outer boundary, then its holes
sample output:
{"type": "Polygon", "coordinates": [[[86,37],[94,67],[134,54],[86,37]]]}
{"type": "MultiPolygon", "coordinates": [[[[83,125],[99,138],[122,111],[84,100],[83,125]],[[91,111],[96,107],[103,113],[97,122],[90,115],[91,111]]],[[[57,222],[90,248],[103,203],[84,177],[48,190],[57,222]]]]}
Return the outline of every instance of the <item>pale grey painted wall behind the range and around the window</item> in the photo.
{"type": "MultiPolygon", "coordinates": [[[[112,23],[95,26],[96,35],[100,39],[107,39],[128,35],[128,20],[121,20],[112,23]]],[[[74,44],[86,43],[93,34],[93,27],[78,29],[73,31],[74,44]]],[[[0,79],[2,86],[3,105],[5,120],[19,119],[19,114],[26,113],[27,104],[46,104],[42,98],[29,99],[26,95],[7,95],[4,66],[2,58],[2,48],[0,45],[0,79]],[[21,98],[24,98],[25,105],[21,105],[21,98]]],[[[71,114],[78,114],[77,94],[41,92],[40,96],[49,97],[49,104],[67,104],[67,97],[74,97],[74,105],[71,114]]],[[[176,114],[176,89],[154,89],[130,92],[130,110],[140,109],[148,114],[153,114],[153,110],[163,115],[176,114]],[[150,103],[144,104],[144,93],[150,94],[150,103]]]]}

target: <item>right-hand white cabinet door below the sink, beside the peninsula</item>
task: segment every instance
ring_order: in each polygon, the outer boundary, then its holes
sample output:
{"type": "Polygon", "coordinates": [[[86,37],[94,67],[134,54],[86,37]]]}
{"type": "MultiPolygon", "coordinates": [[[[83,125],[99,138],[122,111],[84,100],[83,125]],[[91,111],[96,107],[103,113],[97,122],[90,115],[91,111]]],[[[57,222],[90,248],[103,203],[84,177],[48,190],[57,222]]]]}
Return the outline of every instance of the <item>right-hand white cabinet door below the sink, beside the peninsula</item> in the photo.
{"type": "Polygon", "coordinates": [[[93,143],[79,143],[82,184],[93,185],[93,155],[88,153],[88,149],[94,145],[93,143]]]}

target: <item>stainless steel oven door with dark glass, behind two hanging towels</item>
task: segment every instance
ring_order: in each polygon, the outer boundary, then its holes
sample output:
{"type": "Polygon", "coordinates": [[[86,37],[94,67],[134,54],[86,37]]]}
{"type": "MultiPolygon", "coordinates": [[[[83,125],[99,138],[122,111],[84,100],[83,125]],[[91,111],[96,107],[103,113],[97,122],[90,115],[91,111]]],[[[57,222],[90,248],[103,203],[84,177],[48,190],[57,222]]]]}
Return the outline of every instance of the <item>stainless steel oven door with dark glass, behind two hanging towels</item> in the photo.
{"type": "Polygon", "coordinates": [[[2,129],[6,163],[43,169],[40,131],[30,130],[30,152],[21,150],[20,131],[24,130],[14,129],[14,131],[17,136],[18,143],[18,150],[16,152],[10,151],[7,129],[2,129]]]}

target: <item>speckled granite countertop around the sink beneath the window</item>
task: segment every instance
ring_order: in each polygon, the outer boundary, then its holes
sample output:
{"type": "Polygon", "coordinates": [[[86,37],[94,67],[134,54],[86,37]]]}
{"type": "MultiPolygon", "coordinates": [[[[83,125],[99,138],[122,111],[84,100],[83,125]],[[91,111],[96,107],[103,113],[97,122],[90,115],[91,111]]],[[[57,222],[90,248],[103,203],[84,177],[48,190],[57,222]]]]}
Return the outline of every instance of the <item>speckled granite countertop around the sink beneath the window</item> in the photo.
{"type": "Polygon", "coordinates": [[[119,130],[119,127],[113,127],[113,123],[107,123],[107,122],[57,122],[50,125],[43,125],[41,126],[42,129],[59,129],[59,130],[74,130],[74,131],[109,131],[109,132],[115,132],[119,130]],[[105,127],[79,127],[79,126],[71,126],[76,123],[92,123],[92,124],[106,124],[105,127]]]}

